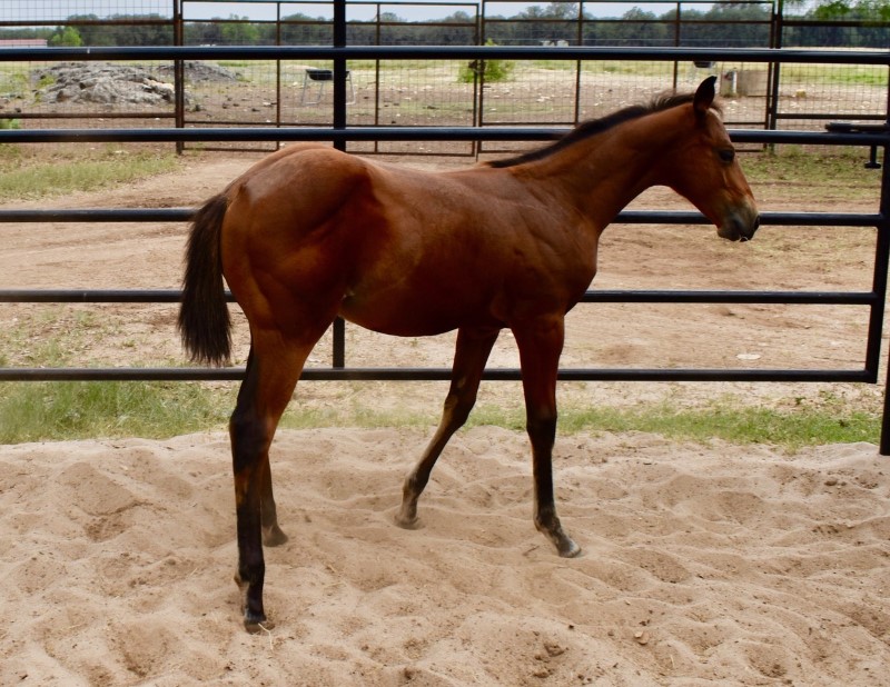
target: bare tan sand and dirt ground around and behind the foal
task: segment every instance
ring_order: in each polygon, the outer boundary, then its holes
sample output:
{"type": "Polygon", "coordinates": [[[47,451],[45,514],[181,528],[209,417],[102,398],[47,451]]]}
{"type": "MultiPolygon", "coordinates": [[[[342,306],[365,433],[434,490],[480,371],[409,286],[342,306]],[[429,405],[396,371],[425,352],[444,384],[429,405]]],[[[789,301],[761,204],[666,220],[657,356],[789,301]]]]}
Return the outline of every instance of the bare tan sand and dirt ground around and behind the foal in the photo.
{"type": "MultiPolygon", "coordinates": [[[[128,188],[29,207],[194,207],[256,158],[194,156],[128,188]]],[[[403,160],[429,169],[465,160],[403,160]]],[[[864,173],[864,172],[863,172],[864,173]]],[[[754,189],[761,210],[877,210],[849,189],[754,189]]],[[[19,203],[24,207],[28,203],[19,203]]],[[[634,207],[685,209],[655,189],[634,207]]],[[[182,223],[3,227],[0,288],[177,288],[182,223]]],[[[763,227],[606,230],[604,289],[868,290],[874,232],[763,227]]],[[[174,306],[4,306],[6,328],[76,330],[99,365],[184,362],[174,306]]],[[[867,312],[817,306],[582,305],[563,364],[860,368],[867,312]]],[[[247,355],[237,326],[236,362],[247,355]]],[[[347,328],[347,364],[451,362],[453,339],[347,328]]],[[[31,351],[39,347],[32,342],[31,351]]],[[[27,366],[29,346],[9,356],[27,366]]],[[[329,364],[323,341],[312,365],[329,364]]],[[[492,366],[517,364],[502,336],[492,366]]],[[[312,382],[299,402],[435,409],[441,384],[312,382]]],[[[564,404],[793,406],[868,385],[563,384],[564,404]]],[[[518,405],[515,385],[481,402],[518,405]]],[[[0,683],[22,685],[880,685],[890,669],[888,464],[874,446],[560,438],[563,517],[586,554],[531,525],[525,438],[458,436],[421,504],[392,524],[427,431],[281,432],[273,462],[290,541],[268,552],[276,627],[247,636],[235,585],[221,434],[0,447],[0,683]],[[883,677],[882,677],[883,676],[883,677]]]]}

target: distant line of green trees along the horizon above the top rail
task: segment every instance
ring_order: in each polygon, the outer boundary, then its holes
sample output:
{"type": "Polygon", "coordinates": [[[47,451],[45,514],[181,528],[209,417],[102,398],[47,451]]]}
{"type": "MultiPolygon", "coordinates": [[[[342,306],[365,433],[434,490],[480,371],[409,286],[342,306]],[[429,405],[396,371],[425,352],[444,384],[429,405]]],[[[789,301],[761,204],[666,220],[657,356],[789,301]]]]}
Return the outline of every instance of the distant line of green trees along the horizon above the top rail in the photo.
{"type": "MultiPolygon", "coordinates": [[[[464,11],[427,21],[406,21],[384,12],[373,21],[349,22],[350,44],[502,46],[582,44],[626,47],[763,48],[770,46],[771,2],[716,2],[706,11],[675,9],[655,14],[634,7],[621,17],[578,17],[578,4],[552,2],[530,7],[513,17],[486,17],[483,27],[464,11]],[[483,36],[484,32],[484,36],[483,36]]],[[[890,48],[890,0],[830,0],[785,27],[782,44],[824,48],[890,48]]],[[[324,17],[295,13],[280,22],[256,22],[230,16],[187,21],[186,44],[313,46],[330,44],[332,23],[324,17]]],[[[170,46],[174,27],[157,14],[117,14],[99,19],[75,14],[59,27],[0,29],[0,38],[46,38],[50,46],[170,46]]]]}

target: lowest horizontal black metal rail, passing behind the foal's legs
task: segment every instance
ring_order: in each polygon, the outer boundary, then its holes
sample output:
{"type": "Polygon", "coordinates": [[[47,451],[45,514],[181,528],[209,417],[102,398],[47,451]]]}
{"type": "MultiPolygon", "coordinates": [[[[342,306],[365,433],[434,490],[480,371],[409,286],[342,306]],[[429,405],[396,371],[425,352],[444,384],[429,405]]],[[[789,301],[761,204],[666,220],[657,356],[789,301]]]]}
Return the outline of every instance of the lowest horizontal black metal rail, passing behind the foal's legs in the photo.
{"type": "MultiPolygon", "coordinates": [[[[230,368],[0,368],[0,381],[238,381],[243,367],[230,368]]],[[[448,368],[309,368],[305,381],[447,381],[448,368]]],[[[490,381],[518,381],[515,368],[485,370],[490,381]]],[[[866,370],[794,369],[562,369],[562,381],[784,381],[864,382],[866,370]]]]}

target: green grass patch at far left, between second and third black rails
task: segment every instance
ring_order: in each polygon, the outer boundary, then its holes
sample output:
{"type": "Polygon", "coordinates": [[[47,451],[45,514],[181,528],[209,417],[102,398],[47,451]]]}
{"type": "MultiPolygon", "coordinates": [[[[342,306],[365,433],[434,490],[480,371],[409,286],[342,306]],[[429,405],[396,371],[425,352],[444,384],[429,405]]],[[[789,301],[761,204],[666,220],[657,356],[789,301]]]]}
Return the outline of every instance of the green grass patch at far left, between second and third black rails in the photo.
{"type": "Polygon", "coordinates": [[[0,145],[0,202],[96,191],[170,172],[179,163],[172,150],[128,152],[108,148],[47,159],[18,146],[0,145]]]}

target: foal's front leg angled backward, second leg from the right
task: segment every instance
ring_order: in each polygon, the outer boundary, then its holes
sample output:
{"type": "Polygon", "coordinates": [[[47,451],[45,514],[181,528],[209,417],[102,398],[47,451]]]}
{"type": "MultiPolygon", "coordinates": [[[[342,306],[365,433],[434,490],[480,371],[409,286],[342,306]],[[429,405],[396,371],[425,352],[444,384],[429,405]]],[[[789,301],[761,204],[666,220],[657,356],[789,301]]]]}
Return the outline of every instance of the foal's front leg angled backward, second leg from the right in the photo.
{"type": "Polygon", "coordinates": [[[402,490],[402,508],[396,524],[406,529],[417,527],[417,500],[429,481],[429,474],[436,465],[448,439],[466,422],[469,411],[476,404],[476,394],[488,354],[497,340],[500,330],[457,331],[452,382],[436,434],[431,439],[421,460],[405,478],[402,490]]]}

